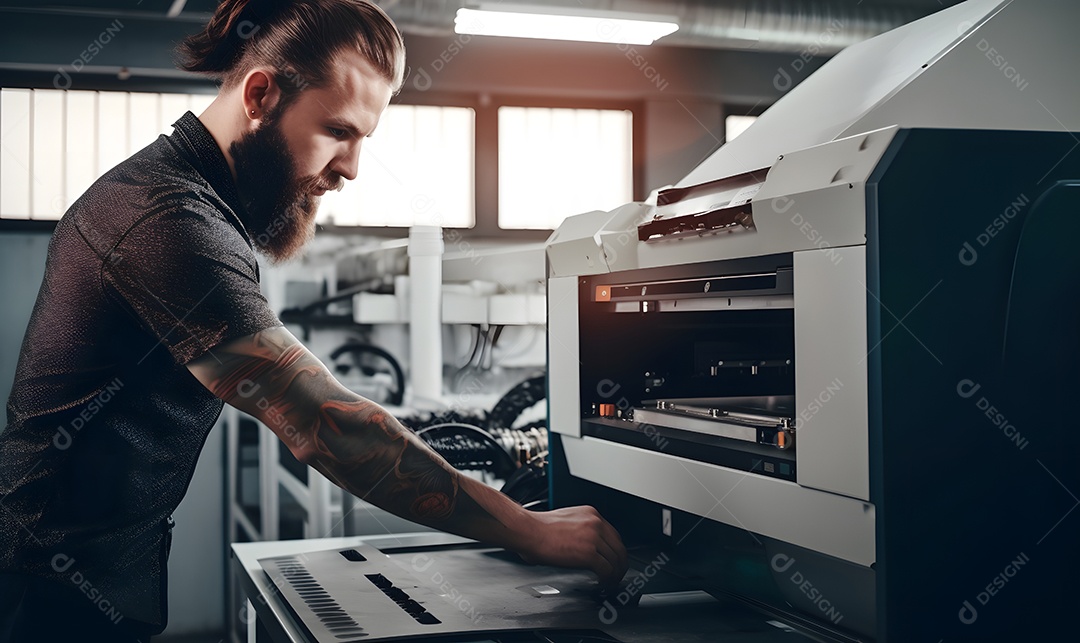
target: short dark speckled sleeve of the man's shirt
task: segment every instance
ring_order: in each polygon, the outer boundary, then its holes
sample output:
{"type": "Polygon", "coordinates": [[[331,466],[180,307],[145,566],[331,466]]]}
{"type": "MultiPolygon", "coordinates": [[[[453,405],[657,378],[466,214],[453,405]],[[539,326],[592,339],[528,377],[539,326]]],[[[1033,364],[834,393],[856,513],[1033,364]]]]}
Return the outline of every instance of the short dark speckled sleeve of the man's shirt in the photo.
{"type": "Polygon", "coordinates": [[[144,218],[105,258],[102,278],[180,364],[281,325],[259,289],[255,253],[210,205],[144,218]]]}

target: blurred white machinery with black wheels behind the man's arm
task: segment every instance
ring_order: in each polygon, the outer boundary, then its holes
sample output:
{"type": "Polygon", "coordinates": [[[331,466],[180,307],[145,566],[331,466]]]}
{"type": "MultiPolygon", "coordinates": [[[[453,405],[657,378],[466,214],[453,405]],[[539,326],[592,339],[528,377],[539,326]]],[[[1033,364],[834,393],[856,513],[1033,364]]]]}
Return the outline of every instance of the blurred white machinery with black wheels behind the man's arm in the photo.
{"type": "MultiPolygon", "coordinates": [[[[423,256],[405,241],[369,240],[275,270],[270,291],[283,296],[271,300],[347,388],[388,407],[467,474],[546,507],[543,245],[463,245],[450,231],[444,253],[437,228],[421,231],[423,256]],[[424,305],[414,310],[419,291],[424,305]],[[413,376],[432,371],[427,383],[413,376]]],[[[286,492],[276,495],[279,535],[427,530],[323,488],[287,451],[264,451],[281,468],[264,467],[262,486],[284,481],[286,492]]],[[[274,501],[262,496],[262,505],[274,501]]]]}

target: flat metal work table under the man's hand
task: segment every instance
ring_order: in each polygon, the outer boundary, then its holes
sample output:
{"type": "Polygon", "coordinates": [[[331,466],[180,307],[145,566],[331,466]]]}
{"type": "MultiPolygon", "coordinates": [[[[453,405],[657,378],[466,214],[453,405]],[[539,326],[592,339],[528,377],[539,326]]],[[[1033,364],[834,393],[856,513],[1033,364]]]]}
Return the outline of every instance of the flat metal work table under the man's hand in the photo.
{"type": "MultiPolygon", "coordinates": [[[[373,641],[423,637],[488,642],[562,641],[570,637],[567,640],[626,643],[808,640],[800,635],[802,632],[742,601],[691,590],[686,579],[661,570],[667,561],[665,555],[651,563],[635,561],[627,574],[630,582],[624,581],[618,595],[597,593],[598,586],[585,572],[525,565],[502,550],[442,533],[234,544],[232,560],[247,599],[241,618],[247,622],[248,643],[320,643],[350,637],[356,640],[370,637],[373,641]],[[349,549],[353,550],[346,551],[349,549]],[[393,564],[402,564],[402,560],[409,558],[415,561],[416,557],[437,562],[438,568],[447,577],[453,576],[455,582],[461,579],[459,595],[468,594],[483,605],[484,624],[481,625],[481,618],[472,619],[471,625],[455,621],[459,616],[455,607],[463,607],[456,604],[447,607],[440,600],[445,597],[428,591],[432,586],[411,584],[407,571],[402,575],[392,568],[393,564]],[[349,561],[364,566],[350,567],[349,561]],[[427,616],[437,615],[443,620],[427,622],[414,615],[411,619],[427,626],[417,627],[410,618],[403,617],[404,613],[397,614],[389,601],[386,607],[369,602],[372,594],[363,592],[372,592],[373,588],[367,587],[363,574],[378,568],[404,581],[407,592],[401,593],[409,593],[433,612],[427,616]],[[296,574],[306,579],[296,580],[296,574]],[[278,582],[271,578],[274,575],[278,582]],[[293,580],[288,580],[291,575],[293,580]],[[312,589],[319,584],[326,589],[312,589]],[[646,585],[648,591],[643,589],[646,585]],[[631,589],[634,586],[637,589],[631,589]],[[322,598],[311,598],[314,592],[325,593],[322,598]],[[337,607],[326,605],[337,600],[345,602],[337,607]],[[355,616],[347,616],[347,608],[355,616]],[[338,615],[328,615],[327,609],[337,611],[338,615]],[[340,620],[352,625],[342,625],[340,620]]],[[[366,578],[375,576],[388,581],[381,574],[367,574],[366,578]]]]}

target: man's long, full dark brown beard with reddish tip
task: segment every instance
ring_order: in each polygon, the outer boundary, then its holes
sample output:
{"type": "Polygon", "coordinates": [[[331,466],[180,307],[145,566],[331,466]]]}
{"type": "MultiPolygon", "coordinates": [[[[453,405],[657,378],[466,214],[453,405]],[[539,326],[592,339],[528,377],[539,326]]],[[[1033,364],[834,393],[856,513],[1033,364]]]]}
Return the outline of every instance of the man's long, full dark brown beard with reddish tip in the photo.
{"type": "Polygon", "coordinates": [[[314,191],[340,189],[340,176],[297,176],[276,110],[258,130],[229,146],[237,168],[237,192],[255,247],[274,263],[291,259],[315,233],[319,197],[314,191]]]}

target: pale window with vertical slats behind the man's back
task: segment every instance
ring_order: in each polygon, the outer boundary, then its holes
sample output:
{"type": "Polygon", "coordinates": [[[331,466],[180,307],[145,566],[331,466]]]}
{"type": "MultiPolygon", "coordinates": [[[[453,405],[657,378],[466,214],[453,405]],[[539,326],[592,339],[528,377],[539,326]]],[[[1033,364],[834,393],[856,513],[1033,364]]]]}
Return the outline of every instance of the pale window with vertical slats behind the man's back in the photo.
{"type": "Polygon", "coordinates": [[[0,90],[0,218],[58,219],[98,176],[213,99],[0,90]]]}

